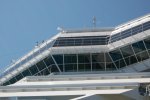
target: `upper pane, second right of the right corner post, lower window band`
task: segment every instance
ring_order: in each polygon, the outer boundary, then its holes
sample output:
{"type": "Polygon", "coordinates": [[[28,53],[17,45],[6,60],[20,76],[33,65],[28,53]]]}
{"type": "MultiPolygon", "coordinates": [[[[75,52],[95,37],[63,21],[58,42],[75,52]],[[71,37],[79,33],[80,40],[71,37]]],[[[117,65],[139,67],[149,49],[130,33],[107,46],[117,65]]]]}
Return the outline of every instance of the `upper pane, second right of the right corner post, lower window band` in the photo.
{"type": "Polygon", "coordinates": [[[120,48],[123,57],[128,57],[134,54],[130,45],[120,48]]]}

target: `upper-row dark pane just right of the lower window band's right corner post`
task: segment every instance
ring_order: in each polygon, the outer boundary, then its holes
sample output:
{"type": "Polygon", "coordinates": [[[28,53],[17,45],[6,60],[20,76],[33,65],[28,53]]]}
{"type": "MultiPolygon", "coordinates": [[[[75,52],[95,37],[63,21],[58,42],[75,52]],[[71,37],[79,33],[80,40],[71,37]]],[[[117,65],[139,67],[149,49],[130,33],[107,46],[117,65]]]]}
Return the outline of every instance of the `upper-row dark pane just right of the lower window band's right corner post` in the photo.
{"type": "Polygon", "coordinates": [[[109,54],[112,57],[113,61],[122,59],[122,55],[121,55],[119,49],[111,51],[111,52],[109,52],[109,54]]]}

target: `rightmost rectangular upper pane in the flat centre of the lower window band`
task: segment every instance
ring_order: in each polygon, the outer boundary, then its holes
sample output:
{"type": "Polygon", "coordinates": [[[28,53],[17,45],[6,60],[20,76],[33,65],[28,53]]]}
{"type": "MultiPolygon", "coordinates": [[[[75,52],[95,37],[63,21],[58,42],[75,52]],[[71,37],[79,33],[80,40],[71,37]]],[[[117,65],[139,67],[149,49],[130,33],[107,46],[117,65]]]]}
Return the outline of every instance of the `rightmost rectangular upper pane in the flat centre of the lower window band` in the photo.
{"type": "Polygon", "coordinates": [[[104,62],[104,53],[92,54],[92,62],[104,62]]]}

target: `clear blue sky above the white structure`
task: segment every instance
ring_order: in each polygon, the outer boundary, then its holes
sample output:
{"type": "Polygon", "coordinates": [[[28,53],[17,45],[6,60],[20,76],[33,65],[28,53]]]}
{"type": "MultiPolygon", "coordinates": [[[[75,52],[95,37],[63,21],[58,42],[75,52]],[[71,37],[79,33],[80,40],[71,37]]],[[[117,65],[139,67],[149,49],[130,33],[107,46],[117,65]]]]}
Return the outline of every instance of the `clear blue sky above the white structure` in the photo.
{"type": "Polygon", "coordinates": [[[58,33],[57,27],[114,27],[150,13],[150,0],[0,0],[0,68],[58,33]]]}

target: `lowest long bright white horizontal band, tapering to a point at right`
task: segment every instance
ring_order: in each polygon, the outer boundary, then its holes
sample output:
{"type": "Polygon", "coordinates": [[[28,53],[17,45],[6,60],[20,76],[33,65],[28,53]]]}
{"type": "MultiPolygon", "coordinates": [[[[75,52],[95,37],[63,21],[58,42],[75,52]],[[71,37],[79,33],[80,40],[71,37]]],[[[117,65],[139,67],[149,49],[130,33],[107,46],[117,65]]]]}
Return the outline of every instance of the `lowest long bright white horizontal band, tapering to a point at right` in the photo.
{"type": "Polygon", "coordinates": [[[69,96],[69,95],[86,95],[86,94],[120,94],[132,89],[118,89],[118,90],[75,90],[75,91],[40,91],[40,92],[13,92],[0,93],[0,97],[29,97],[29,96],[69,96]]]}

